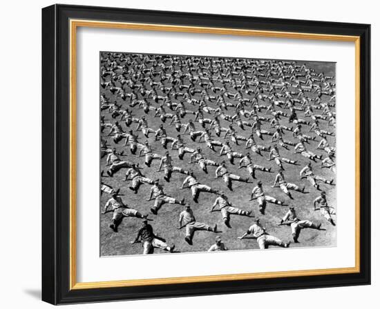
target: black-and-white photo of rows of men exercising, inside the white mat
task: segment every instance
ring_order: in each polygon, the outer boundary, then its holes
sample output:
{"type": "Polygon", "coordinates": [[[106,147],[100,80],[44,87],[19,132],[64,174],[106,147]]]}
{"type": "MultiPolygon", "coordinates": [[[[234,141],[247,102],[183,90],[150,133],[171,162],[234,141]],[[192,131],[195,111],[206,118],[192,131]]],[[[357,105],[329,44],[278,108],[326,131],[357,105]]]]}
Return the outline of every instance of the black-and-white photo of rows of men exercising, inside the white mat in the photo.
{"type": "Polygon", "coordinates": [[[336,246],[336,63],[99,61],[101,256],[336,246]]]}

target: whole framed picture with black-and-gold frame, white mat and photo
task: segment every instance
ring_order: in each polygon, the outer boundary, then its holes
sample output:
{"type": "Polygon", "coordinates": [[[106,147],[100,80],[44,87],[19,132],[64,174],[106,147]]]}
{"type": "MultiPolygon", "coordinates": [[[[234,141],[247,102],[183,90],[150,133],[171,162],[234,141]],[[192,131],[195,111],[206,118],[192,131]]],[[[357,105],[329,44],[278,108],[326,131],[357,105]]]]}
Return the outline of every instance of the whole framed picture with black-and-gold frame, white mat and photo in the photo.
{"type": "Polygon", "coordinates": [[[42,10],[42,299],[370,284],[370,25],[42,10]]]}

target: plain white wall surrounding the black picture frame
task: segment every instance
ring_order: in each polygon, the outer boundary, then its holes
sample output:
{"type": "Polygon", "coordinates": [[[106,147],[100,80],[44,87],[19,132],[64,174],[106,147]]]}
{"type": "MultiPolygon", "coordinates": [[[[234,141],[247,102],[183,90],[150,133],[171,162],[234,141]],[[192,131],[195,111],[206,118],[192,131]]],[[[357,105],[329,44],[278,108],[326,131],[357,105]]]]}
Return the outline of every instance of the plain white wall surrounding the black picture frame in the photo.
{"type": "MultiPolygon", "coordinates": [[[[379,7],[376,1],[60,1],[88,6],[115,6],[215,14],[236,14],[372,24],[372,286],[294,290],[256,294],[160,299],[129,303],[82,305],[89,308],[233,308],[240,306],[281,308],[358,308],[379,303],[380,271],[377,267],[379,212],[379,121],[376,94],[379,83],[379,7]],[[372,303],[372,304],[371,304],[372,303]]],[[[1,6],[1,219],[0,304],[46,308],[41,286],[41,8],[53,1],[3,1],[1,6]],[[22,65],[20,66],[20,63],[22,65]],[[20,67],[19,67],[20,66],[20,67]],[[18,82],[23,77],[23,84],[18,82]]],[[[67,308],[72,307],[68,306],[67,308]]],[[[78,308],[78,307],[77,307],[78,308]]]]}

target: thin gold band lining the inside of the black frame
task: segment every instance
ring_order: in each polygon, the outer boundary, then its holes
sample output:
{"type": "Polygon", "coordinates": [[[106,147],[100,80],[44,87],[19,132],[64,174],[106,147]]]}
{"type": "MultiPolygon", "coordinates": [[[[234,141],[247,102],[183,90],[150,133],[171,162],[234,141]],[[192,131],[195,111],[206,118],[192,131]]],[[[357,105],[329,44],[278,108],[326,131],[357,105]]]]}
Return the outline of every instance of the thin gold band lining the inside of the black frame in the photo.
{"type": "Polygon", "coordinates": [[[122,23],[70,19],[70,290],[89,288],[115,288],[127,286],[148,286],[173,283],[197,283],[231,281],[244,279],[267,279],[314,275],[336,275],[360,272],[360,37],[335,34],[314,34],[302,32],[279,32],[266,30],[244,30],[233,28],[211,28],[173,26],[150,23],[122,23]],[[355,266],[350,268],[328,268],[318,270],[291,270],[281,272],[255,272],[233,275],[209,275],[193,277],[169,277],[158,279],[131,279],[120,281],[77,282],[77,239],[76,239],[76,128],[77,128],[77,28],[114,28],[128,30],[149,30],[166,32],[189,32],[225,34],[284,39],[314,39],[324,41],[346,41],[355,43],[355,266]]]}

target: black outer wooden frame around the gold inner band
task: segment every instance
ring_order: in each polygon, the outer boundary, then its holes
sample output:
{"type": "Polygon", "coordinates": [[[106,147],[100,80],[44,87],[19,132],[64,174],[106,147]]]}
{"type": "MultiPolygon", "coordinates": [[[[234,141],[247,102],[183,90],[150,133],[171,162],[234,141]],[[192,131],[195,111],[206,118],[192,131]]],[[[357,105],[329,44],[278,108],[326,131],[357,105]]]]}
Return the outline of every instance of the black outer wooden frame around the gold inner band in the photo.
{"type": "Polygon", "coordinates": [[[42,10],[42,299],[53,304],[370,284],[370,25],[54,5],[42,10]],[[70,290],[69,19],[360,37],[360,272],[70,290]]]}

